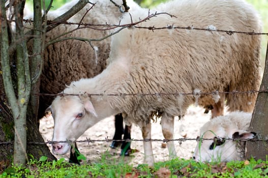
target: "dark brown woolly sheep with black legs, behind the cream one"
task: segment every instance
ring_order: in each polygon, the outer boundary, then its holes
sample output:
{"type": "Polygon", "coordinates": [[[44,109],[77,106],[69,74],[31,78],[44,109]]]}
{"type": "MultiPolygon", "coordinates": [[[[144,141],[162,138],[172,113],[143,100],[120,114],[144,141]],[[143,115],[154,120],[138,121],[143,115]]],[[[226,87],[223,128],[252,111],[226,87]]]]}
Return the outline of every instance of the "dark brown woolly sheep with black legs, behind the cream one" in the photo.
{"type": "MultiPolygon", "coordinates": [[[[72,8],[78,0],[73,0],[56,11],[49,11],[47,14],[48,20],[64,14],[72,8]]],[[[91,24],[118,24],[122,13],[109,0],[91,1],[96,3],[95,6],[83,18],[83,23],[91,24]],[[94,15],[93,15],[94,14],[94,15]]],[[[122,4],[122,0],[115,1],[117,4],[122,4]]],[[[139,6],[132,0],[127,1],[130,7],[130,12],[139,6]]],[[[79,23],[87,9],[90,9],[92,4],[87,4],[81,11],[68,20],[68,22],[79,23]]],[[[28,13],[24,16],[25,19],[33,19],[33,14],[28,13]]],[[[29,25],[29,24],[25,24],[29,25]]],[[[77,25],[62,24],[52,29],[46,34],[46,41],[49,41],[58,35],[69,32],[76,28],[77,25]]],[[[108,31],[96,31],[90,28],[83,28],[66,35],[66,37],[80,37],[86,39],[98,39],[108,35],[108,31]]],[[[80,78],[94,77],[106,68],[106,60],[110,52],[110,38],[101,42],[94,43],[95,50],[87,43],[77,40],[62,41],[49,45],[44,51],[44,68],[41,74],[40,93],[57,94],[64,87],[69,85],[71,81],[80,78]]],[[[31,45],[31,44],[30,44],[31,45]]],[[[29,48],[31,49],[31,48],[29,48]]],[[[51,104],[53,98],[40,96],[40,106],[38,117],[44,115],[45,109],[51,104]]],[[[115,122],[114,139],[122,139],[123,118],[121,115],[116,115],[119,121],[115,122]]],[[[125,138],[130,138],[129,126],[125,126],[125,138]]],[[[113,142],[111,146],[118,146],[118,142],[113,142]],[[117,143],[117,144],[116,144],[117,143]]],[[[127,142],[122,144],[122,151],[127,145],[127,142]]],[[[130,146],[127,149],[130,150],[130,146]]],[[[122,154],[128,154],[122,153],[122,154]]]]}

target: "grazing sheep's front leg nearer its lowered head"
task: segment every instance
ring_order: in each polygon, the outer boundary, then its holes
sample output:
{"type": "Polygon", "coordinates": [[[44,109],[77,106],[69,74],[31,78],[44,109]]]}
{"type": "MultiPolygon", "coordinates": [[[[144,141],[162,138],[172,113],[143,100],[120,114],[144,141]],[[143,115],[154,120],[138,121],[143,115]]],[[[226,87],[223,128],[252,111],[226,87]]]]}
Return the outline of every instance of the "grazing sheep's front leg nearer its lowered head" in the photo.
{"type": "Polygon", "coordinates": [[[144,164],[148,164],[148,166],[154,166],[154,155],[153,155],[153,146],[151,141],[151,123],[148,123],[146,126],[141,128],[142,138],[144,140],[148,139],[148,141],[143,141],[143,149],[144,149],[144,164]]]}

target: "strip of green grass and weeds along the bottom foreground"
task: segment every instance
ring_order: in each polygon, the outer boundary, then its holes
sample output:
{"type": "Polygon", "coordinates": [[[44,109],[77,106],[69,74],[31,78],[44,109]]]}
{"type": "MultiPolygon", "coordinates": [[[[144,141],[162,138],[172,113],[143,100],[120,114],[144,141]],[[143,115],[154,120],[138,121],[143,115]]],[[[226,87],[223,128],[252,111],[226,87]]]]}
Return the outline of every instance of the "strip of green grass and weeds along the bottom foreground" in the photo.
{"type": "MultiPolygon", "coordinates": [[[[105,159],[99,163],[78,166],[64,159],[47,161],[46,157],[31,160],[25,167],[9,167],[2,177],[268,177],[268,161],[232,161],[228,163],[200,163],[173,159],[155,163],[154,167],[141,164],[136,167],[105,159]]],[[[117,159],[116,159],[117,160],[117,159]]]]}

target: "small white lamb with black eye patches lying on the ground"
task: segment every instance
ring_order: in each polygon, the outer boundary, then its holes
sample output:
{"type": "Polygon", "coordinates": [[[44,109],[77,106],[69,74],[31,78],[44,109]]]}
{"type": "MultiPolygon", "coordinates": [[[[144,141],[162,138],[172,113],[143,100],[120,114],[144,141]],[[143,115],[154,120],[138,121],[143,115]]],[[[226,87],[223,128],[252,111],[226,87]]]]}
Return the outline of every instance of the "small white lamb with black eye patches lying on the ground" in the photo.
{"type": "Polygon", "coordinates": [[[250,121],[251,113],[235,111],[205,123],[200,129],[199,138],[214,140],[198,141],[193,159],[203,162],[245,160],[246,141],[231,139],[254,138],[256,133],[248,131],[250,121]]]}

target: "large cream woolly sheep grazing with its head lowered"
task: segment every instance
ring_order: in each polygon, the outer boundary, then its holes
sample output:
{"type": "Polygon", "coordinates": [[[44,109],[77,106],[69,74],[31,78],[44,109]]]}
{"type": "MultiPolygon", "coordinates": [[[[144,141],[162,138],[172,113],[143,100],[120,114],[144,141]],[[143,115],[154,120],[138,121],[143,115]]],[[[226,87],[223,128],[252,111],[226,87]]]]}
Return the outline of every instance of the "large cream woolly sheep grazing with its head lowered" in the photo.
{"type": "MultiPolygon", "coordinates": [[[[145,139],[144,163],[151,166],[154,164],[150,141],[152,115],[162,116],[164,138],[172,139],[174,116],[183,115],[195,102],[201,106],[212,105],[217,110],[213,112],[215,115],[223,110],[225,97],[229,111],[253,109],[255,94],[221,94],[221,98],[215,100],[211,95],[198,98],[180,93],[257,90],[260,82],[259,36],[172,29],[213,24],[218,29],[260,32],[260,20],[252,7],[242,0],[175,0],[150,12],[139,9],[131,16],[126,14],[121,24],[137,22],[156,12],[166,12],[176,18],[160,14],[137,26],[152,29],[168,25],[171,29],[153,32],[135,26],[122,29],[112,36],[107,68],[96,77],[73,81],[62,92],[77,96],[54,99],[48,108],[55,121],[53,141],[76,140],[103,118],[124,113],[128,124],[134,123],[141,128],[145,139]],[[160,92],[178,95],[154,95],[160,92]]],[[[54,143],[52,147],[54,154],[62,155],[68,152],[70,143],[54,143]]],[[[173,158],[176,155],[173,141],[168,141],[167,147],[173,158]]]]}

